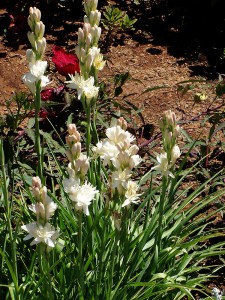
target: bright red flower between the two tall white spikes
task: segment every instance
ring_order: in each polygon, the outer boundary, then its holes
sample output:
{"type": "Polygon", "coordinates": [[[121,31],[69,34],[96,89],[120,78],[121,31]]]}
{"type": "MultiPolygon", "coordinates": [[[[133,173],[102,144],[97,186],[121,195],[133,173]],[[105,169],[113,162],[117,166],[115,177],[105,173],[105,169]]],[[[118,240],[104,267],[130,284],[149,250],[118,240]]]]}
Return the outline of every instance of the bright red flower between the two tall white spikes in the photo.
{"type": "Polygon", "coordinates": [[[52,61],[59,74],[67,76],[68,74],[80,72],[79,60],[75,54],[67,53],[63,48],[58,46],[54,46],[52,52],[52,61]]]}

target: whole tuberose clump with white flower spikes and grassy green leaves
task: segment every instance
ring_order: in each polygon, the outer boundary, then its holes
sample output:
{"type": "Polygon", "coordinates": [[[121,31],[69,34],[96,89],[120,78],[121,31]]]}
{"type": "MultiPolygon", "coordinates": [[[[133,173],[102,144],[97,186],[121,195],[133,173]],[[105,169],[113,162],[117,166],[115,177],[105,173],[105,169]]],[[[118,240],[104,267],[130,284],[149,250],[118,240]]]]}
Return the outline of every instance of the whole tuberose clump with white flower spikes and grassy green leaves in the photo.
{"type": "Polygon", "coordinates": [[[195,189],[183,184],[198,163],[184,168],[193,146],[182,155],[175,114],[163,113],[157,164],[141,178],[139,147],[123,117],[112,118],[100,138],[98,72],[105,62],[98,47],[97,4],[84,1],[79,68],[65,82],[76,91],[86,119],[79,127],[68,122],[65,143],[55,132],[61,146],[40,136],[41,91],[49,79],[41,13],[30,9],[30,72],[23,80],[35,102],[37,168],[25,169],[15,158],[15,176],[9,179],[1,141],[0,296],[178,300],[195,299],[197,291],[221,299],[221,292],[214,289],[211,295],[206,284],[222,267],[225,233],[213,223],[224,206],[205,210],[225,190],[221,184],[209,192],[220,174],[195,189]],[[218,261],[209,264],[211,258],[218,261]]]}

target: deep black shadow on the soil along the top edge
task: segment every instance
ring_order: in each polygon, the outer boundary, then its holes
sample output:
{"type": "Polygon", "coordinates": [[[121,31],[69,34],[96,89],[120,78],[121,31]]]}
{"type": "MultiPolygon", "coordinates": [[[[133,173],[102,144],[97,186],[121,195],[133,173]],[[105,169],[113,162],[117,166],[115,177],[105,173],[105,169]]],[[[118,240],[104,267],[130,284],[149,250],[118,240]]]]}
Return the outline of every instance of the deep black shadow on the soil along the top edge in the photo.
{"type": "MultiPolygon", "coordinates": [[[[26,17],[30,6],[42,11],[46,33],[53,36],[58,45],[66,46],[68,39],[76,40],[79,21],[83,21],[82,1],[6,0],[0,4],[5,13],[0,16],[0,34],[5,43],[14,49],[27,43],[26,17]],[[14,26],[12,26],[14,24],[14,26]]],[[[131,33],[139,43],[151,43],[157,54],[157,46],[167,46],[168,52],[178,63],[187,63],[192,75],[218,78],[225,73],[225,1],[224,0],[139,0],[111,1],[130,17],[137,18],[136,30],[131,33]]],[[[99,0],[99,8],[107,2],[99,0]]],[[[51,41],[50,41],[51,42],[51,41]]]]}

